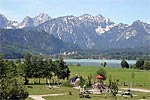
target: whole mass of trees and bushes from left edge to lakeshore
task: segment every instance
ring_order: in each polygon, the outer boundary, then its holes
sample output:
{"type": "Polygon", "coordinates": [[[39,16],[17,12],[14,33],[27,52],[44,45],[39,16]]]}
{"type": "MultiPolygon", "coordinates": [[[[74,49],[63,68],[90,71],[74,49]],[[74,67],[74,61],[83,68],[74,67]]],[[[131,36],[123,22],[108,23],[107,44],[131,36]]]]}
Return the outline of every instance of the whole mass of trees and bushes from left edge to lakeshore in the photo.
{"type": "Polygon", "coordinates": [[[17,100],[28,97],[24,84],[29,78],[68,79],[70,70],[63,59],[52,61],[43,56],[32,56],[26,52],[24,60],[8,61],[0,56],[0,99],[17,100]]]}

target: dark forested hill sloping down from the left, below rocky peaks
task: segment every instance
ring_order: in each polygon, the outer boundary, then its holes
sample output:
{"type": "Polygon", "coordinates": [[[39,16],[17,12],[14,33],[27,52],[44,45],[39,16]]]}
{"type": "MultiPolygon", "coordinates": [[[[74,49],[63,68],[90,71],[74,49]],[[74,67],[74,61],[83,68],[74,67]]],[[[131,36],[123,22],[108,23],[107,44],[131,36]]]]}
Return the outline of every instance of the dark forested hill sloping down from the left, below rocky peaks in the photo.
{"type": "MultiPolygon", "coordinates": [[[[70,50],[68,44],[43,31],[3,29],[0,30],[0,39],[0,52],[7,57],[11,55],[21,56],[26,51],[32,54],[51,54],[59,53],[60,50],[70,50]]],[[[72,46],[72,48],[74,47],[72,46]]]]}

